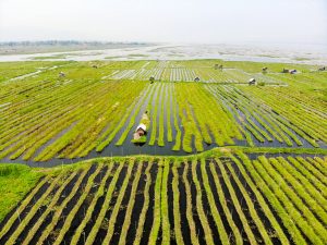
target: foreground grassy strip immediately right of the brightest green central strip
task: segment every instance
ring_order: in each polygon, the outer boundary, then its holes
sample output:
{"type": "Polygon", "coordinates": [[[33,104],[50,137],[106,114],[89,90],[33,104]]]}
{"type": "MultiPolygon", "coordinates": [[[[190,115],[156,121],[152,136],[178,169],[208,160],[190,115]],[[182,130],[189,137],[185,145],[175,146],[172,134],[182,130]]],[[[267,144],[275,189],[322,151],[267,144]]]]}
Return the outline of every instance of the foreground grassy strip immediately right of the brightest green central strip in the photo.
{"type": "Polygon", "coordinates": [[[173,162],[172,170],[172,189],[173,189],[173,223],[174,223],[174,237],[178,245],[184,245],[182,228],[181,228],[181,213],[180,213],[180,191],[179,191],[179,173],[178,161],[173,162]]]}

